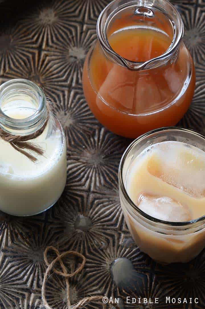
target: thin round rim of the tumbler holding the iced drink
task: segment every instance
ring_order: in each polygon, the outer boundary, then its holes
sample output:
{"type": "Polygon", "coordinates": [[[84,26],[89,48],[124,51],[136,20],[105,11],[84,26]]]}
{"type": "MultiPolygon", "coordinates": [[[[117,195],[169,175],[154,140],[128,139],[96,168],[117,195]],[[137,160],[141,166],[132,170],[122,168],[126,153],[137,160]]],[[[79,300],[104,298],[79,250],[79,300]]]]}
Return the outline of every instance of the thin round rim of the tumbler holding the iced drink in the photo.
{"type": "Polygon", "coordinates": [[[205,136],[203,136],[202,134],[192,130],[192,129],[185,129],[185,128],[181,128],[181,127],[162,127],[159,129],[154,129],[151,130],[147,133],[144,133],[142,135],[140,135],[138,138],[136,138],[128,147],[127,149],[124,151],[122,158],[120,160],[120,165],[119,165],[119,169],[118,169],[118,180],[119,180],[119,185],[120,188],[122,190],[123,196],[126,199],[126,201],[129,203],[129,205],[135,210],[137,211],[138,214],[140,214],[143,218],[148,219],[149,221],[152,221],[154,223],[159,223],[159,224],[164,224],[166,226],[187,226],[187,225],[193,225],[194,223],[197,222],[201,222],[205,219],[205,214],[199,218],[190,220],[190,221],[181,221],[181,222],[172,222],[172,221],[165,221],[165,220],[160,220],[157,219],[155,217],[152,217],[148,214],[146,214],[144,211],[142,211],[141,209],[139,209],[137,207],[137,205],[131,200],[131,198],[129,197],[127,190],[124,186],[124,181],[123,181],[123,167],[124,167],[124,162],[125,159],[127,157],[127,155],[129,154],[129,151],[133,148],[133,146],[135,146],[138,142],[142,141],[144,138],[148,137],[149,135],[153,134],[153,133],[158,133],[158,132],[162,132],[162,131],[166,131],[166,130],[176,130],[176,131],[183,131],[183,132],[187,132],[187,133],[191,133],[194,135],[197,135],[198,137],[201,137],[205,140],[205,136]]]}

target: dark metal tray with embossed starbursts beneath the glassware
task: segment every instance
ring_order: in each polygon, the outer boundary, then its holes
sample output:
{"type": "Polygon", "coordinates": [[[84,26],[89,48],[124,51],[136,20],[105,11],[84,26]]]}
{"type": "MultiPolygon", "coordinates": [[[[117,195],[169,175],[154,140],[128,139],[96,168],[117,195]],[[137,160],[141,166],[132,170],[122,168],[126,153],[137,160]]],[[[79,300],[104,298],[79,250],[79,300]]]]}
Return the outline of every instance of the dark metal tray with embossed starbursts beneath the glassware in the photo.
{"type": "MultiPolygon", "coordinates": [[[[140,252],[124,222],[118,196],[120,157],[130,140],[102,127],[82,91],[82,66],[96,39],[96,21],[107,0],[0,1],[0,82],[27,78],[42,87],[65,130],[68,180],[58,203],[29,218],[0,214],[0,308],[43,308],[43,252],[86,256],[71,280],[71,302],[88,295],[118,297],[124,308],[205,308],[205,251],[188,264],[161,266],[140,252]],[[127,304],[126,297],[159,298],[127,304]],[[198,298],[170,304],[165,297],[198,298]]],[[[181,126],[205,133],[205,1],[174,1],[185,25],[184,41],[196,66],[196,90],[181,126]]],[[[51,275],[46,297],[66,308],[65,282],[51,275]]],[[[107,305],[104,305],[106,307],[107,305]]],[[[102,308],[92,302],[85,308],[102,308]]]]}

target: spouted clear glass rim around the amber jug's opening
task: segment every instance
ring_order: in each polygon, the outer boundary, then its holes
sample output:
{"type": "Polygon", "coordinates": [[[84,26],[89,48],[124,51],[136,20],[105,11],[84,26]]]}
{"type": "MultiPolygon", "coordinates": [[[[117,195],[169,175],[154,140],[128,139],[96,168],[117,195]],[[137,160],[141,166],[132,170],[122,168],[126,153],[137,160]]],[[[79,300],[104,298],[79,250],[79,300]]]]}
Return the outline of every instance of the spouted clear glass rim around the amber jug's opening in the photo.
{"type": "MultiPolygon", "coordinates": [[[[151,11],[152,12],[152,11],[151,11]]],[[[179,44],[184,35],[184,24],[177,9],[168,0],[113,0],[100,13],[97,21],[97,37],[103,51],[111,60],[129,70],[145,70],[167,63],[175,59],[178,55],[179,44]],[[166,15],[173,26],[173,40],[169,48],[159,57],[152,58],[144,62],[130,61],[118,53],[110,46],[107,39],[107,27],[113,16],[120,13],[127,7],[146,8],[151,11],[153,8],[166,15]],[[166,8],[166,9],[165,9],[166,8]],[[169,10],[169,12],[168,12],[169,10]]]]}

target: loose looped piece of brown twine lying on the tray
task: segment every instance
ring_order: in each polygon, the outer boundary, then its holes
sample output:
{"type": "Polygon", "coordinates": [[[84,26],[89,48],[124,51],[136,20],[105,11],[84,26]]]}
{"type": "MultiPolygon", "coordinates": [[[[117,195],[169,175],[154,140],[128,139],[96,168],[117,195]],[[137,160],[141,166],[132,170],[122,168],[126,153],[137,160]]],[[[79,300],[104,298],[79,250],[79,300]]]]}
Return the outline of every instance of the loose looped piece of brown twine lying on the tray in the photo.
{"type": "MultiPolygon", "coordinates": [[[[83,256],[81,253],[78,253],[76,251],[67,251],[67,252],[60,254],[59,251],[56,248],[50,246],[50,247],[47,247],[45,252],[44,252],[44,260],[45,260],[45,263],[47,265],[47,269],[46,269],[46,273],[45,273],[44,278],[43,278],[41,294],[42,294],[43,305],[45,306],[46,309],[53,309],[52,307],[49,306],[49,304],[47,303],[47,300],[46,300],[46,280],[47,280],[48,274],[50,273],[51,270],[53,270],[53,272],[58,274],[59,276],[62,276],[62,277],[65,278],[66,289],[67,289],[67,309],[78,309],[78,308],[82,307],[83,305],[85,305],[86,303],[96,301],[96,300],[102,300],[103,296],[96,295],[96,296],[85,297],[85,298],[81,299],[78,303],[71,305],[69,278],[74,277],[76,274],[80,273],[81,270],[84,268],[86,259],[85,259],[85,256],[83,256]],[[47,253],[48,253],[49,250],[53,250],[55,252],[55,254],[57,255],[57,257],[50,264],[49,264],[48,258],[47,258],[47,253]],[[62,261],[63,257],[69,256],[69,255],[79,257],[82,260],[81,265],[73,273],[68,273],[68,270],[67,270],[67,268],[65,267],[65,265],[63,264],[63,261],[62,261]],[[62,272],[54,268],[54,265],[56,264],[56,262],[60,263],[62,272]]],[[[119,308],[115,304],[112,304],[112,306],[115,307],[115,308],[119,308]]]]}

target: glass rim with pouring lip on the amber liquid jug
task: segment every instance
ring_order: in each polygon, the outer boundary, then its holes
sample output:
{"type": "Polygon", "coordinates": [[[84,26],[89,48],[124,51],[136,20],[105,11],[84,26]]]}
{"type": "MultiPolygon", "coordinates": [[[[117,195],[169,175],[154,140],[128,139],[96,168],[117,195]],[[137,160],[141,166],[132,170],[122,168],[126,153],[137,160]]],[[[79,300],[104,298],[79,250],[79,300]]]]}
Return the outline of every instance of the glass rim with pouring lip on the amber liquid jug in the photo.
{"type": "MultiPolygon", "coordinates": [[[[109,10],[109,8],[111,6],[113,6],[116,2],[119,2],[119,0],[113,0],[111,1],[100,13],[99,17],[98,17],[98,21],[97,21],[97,37],[98,40],[103,48],[103,50],[106,52],[107,55],[109,55],[109,57],[113,60],[116,61],[119,65],[121,66],[125,66],[127,67],[129,70],[145,70],[145,69],[150,69],[153,67],[153,63],[156,65],[156,63],[160,63],[161,65],[161,61],[163,60],[167,60],[170,57],[172,57],[172,55],[174,53],[178,53],[178,48],[179,48],[179,44],[181,42],[181,39],[184,35],[184,24],[181,18],[181,15],[179,14],[179,12],[177,11],[177,9],[172,5],[172,3],[170,3],[168,0],[160,0],[161,3],[166,3],[174,12],[174,14],[176,15],[176,19],[178,22],[178,26],[175,25],[173,26],[173,18],[169,18],[169,14],[164,10],[161,11],[164,15],[166,15],[168,17],[168,19],[170,20],[170,22],[172,23],[172,27],[173,27],[173,39],[172,42],[170,44],[170,46],[168,47],[168,49],[160,56],[152,58],[150,60],[144,61],[144,62],[137,62],[137,61],[131,61],[129,59],[126,59],[122,56],[120,56],[118,53],[116,53],[110,46],[108,39],[107,39],[107,31],[106,33],[103,33],[104,28],[107,28],[107,26],[105,26],[103,23],[103,18],[104,15],[106,15],[106,12],[109,10]],[[178,33],[176,34],[176,28],[178,29],[178,33]]],[[[136,4],[139,4],[139,7],[142,7],[142,4],[140,5],[140,3],[142,1],[140,0],[132,0],[132,1],[128,1],[126,4],[127,6],[133,6],[135,5],[134,3],[136,2],[136,4]]],[[[157,8],[157,3],[154,1],[151,4],[149,4],[149,1],[145,1],[146,2],[146,8],[150,9],[152,7],[157,8]]],[[[126,6],[121,5],[121,9],[123,9],[126,6]]],[[[115,8],[115,11],[117,14],[118,12],[120,12],[120,6],[117,6],[117,8],[115,8]]],[[[160,11],[160,10],[159,10],[160,11]]],[[[111,14],[110,14],[111,15],[111,14]]],[[[106,24],[109,21],[109,17],[106,20],[106,24]]],[[[114,16],[114,15],[113,15],[114,16]]],[[[111,17],[112,18],[112,17],[111,17]]],[[[158,64],[159,65],[159,64],[158,64]]],[[[155,66],[154,66],[155,67],[155,66]]]]}

